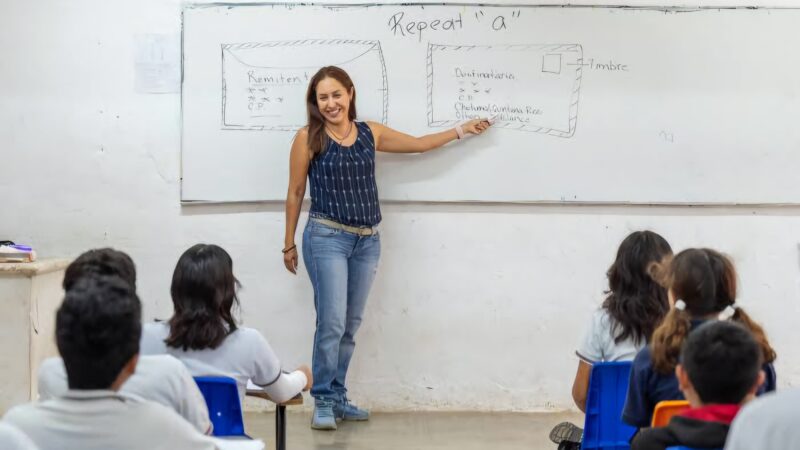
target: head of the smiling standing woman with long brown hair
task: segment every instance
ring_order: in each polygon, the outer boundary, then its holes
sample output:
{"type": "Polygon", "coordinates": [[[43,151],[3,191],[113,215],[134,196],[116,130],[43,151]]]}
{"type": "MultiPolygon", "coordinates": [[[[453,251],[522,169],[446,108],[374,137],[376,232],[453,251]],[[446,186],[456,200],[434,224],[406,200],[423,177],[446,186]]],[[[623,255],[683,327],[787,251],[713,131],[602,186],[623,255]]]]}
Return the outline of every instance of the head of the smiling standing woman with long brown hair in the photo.
{"type": "Polygon", "coordinates": [[[339,125],[356,118],[356,90],[347,72],[326,66],[308,83],[308,149],[316,156],[328,142],[325,124],[339,125]]]}

